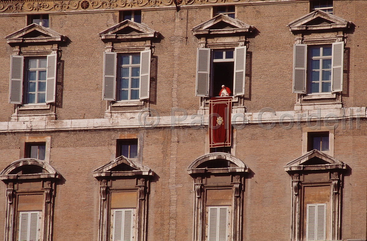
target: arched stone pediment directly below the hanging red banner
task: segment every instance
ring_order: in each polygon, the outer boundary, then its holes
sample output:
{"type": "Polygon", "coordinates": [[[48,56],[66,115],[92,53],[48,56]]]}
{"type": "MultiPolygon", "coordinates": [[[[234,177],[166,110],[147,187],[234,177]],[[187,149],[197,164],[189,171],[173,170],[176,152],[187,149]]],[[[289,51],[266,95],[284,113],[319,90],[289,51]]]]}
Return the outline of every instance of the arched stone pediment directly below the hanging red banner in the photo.
{"type": "Polygon", "coordinates": [[[188,167],[189,174],[193,173],[234,173],[248,172],[248,167],[237,157],[224,152],[215,152],[198,157],[188,167]],[[213,167],[213,161],[227,161],[230,164],[227,167],[213,167]],[[206,165],[207,164],[207,165],[206,165]]]}

